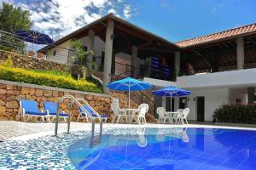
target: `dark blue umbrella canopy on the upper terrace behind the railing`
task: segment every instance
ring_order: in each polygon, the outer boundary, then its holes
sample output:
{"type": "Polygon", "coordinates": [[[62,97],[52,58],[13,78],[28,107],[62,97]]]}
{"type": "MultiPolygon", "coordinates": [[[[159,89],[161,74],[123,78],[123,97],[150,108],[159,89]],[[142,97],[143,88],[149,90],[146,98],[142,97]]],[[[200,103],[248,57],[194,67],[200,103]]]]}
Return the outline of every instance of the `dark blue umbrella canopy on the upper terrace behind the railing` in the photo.
{"type": "Polygon", "coordinates": [[[54,42],[48,35],[32,30],[18,30],[15,35],[20,37],[25,42],[32,42],[36,44],[51,44],[54,42]]]}

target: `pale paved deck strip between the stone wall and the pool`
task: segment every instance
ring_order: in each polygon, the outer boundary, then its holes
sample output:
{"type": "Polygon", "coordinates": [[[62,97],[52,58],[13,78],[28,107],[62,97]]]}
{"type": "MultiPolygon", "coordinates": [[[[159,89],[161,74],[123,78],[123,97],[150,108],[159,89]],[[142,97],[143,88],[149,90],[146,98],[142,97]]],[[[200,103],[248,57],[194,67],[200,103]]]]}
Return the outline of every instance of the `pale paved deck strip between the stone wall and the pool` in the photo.
{"type": "MultiPolygon", "coordinates": [[[[75,130],[90,130],[91,124],[84,122],[71,122],[71,131],[75,130]]],[[[99,124],[96,124],[99,127],[99,124]]],[[[103,127],[213,127],[213,128],[236,128],[236,129],[251,129],[256,128],[250,125],[246,127],[237,127],[236,124],[218,124],[218,125],[206,125],[206,124],[189,124],[189,125],[173,125],[173,124],[113,124],[106,123],[103,127]],[[233,125],[233,126],[230,126],[233,125]]],[[[55,123],[41,123],[41,122],[15,122],[15,121],[0,121],[0,141],[7,139],[32,139],[42,135],[53,135],[55,131],[55,123]]],[[[59,133],[67,132],[67,123],[59,123],[59,133]]]]}

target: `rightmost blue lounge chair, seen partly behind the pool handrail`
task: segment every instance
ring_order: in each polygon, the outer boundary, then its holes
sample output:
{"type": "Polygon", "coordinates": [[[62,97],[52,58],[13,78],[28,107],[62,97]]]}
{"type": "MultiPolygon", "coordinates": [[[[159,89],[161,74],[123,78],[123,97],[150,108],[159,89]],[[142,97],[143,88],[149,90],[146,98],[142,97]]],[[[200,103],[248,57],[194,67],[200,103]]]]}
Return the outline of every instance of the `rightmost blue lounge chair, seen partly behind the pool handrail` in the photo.
{"type": "MultiPolygon", "coordinates": [[[[89,105],[84,105],[84,110],[86,111],[86,113],[84,113],[84,111],[79,106],[79,117],[77,119],[77,122],[79,122],[79,119],[84,119],[84,118],[86,119],[87,122],[89,122],[89,119],[91,119],[91,118],[90,118],[90,116],[88,116],[88,114],[90,114],[94,119],[98,118],[95,114],[96,111],[93,110],[89,105]]],[[[103,122],[107,122],[107,120],[108,120],[107,115],[103,114],[103,115],[101,115],[101,117],[102,117],[103,122]]]]}

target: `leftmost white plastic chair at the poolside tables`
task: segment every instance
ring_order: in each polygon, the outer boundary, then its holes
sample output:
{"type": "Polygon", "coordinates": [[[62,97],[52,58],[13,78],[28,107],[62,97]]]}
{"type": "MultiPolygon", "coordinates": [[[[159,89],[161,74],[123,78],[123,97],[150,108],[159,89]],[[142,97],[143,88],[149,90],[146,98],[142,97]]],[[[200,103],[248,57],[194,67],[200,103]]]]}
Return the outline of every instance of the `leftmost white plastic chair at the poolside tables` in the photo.
{"type": "Polygon", "coordinates": [[[125,122],[127,123],[126,111],[121,110],[119,108],[119,100],[118,99],[113,99],[113,102],[111,104],[111,110],[113,111],[113,121],[112,121],[112,123],[114,122],[114,120],[116,118],[118,118],[117,122],[116,122],[116,123],[118,123],[121,116],[125,116],[125,122]]]}

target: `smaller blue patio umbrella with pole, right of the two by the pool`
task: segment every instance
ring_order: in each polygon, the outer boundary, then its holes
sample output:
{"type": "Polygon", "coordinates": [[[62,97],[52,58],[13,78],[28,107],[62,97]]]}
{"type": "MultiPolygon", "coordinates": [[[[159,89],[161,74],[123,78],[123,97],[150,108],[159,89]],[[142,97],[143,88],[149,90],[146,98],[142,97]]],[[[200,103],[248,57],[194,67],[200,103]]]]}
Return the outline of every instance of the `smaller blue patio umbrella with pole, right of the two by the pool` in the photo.
{"type": "Polygon", "coordinates": [[[159,90],[155,90],[152,92],[154,95],[171,97],[171,111],[172,111],[172,97],[186,96],[189,95],[190,92],[188,90],[184,90],[181,88],[177,88],[174,86],[169,86],[167,88],[161,88],[159,90]]]}

